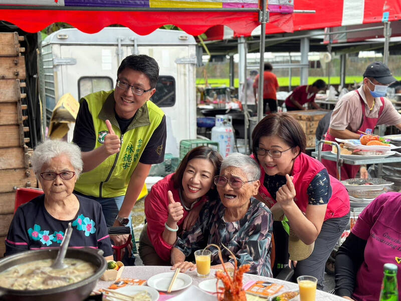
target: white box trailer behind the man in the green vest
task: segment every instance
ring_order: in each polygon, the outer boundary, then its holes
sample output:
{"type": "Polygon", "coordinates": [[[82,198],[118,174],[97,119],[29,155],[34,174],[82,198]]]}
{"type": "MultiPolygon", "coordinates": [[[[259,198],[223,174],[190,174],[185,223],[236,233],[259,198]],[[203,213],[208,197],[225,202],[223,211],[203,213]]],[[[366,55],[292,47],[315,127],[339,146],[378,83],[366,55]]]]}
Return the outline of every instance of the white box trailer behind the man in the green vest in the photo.
{"type": "Polygon", "coordinates": [[[124,27],[108,27],[96,34],[73,28],[54,32],[42,42],[40,78],[47,115],[65,93],[79,100],[113,89],[120,62],[131,54],[146,54],[160,67],[151,100],[166,115],[166,153],[178,157],[179,141],[196,138],[195,45],[194,38],[182,31],[156,30],[147,36],[124,27]]]}

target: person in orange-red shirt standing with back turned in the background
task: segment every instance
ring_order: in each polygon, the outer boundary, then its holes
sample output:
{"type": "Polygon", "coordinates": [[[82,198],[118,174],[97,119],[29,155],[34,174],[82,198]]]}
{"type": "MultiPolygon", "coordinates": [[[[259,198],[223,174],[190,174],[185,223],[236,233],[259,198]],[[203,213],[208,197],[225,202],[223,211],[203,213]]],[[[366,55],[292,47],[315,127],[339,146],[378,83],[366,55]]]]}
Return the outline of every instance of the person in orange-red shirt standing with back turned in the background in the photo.
{"type": "MultiPolygon", "coordinates": [[[[273,66],[270,63],[265,63],[265,72],[263,73],[263,112],[268,111],[266,104],[269,104],[271,112],[277,112],[277,97],[276,92],[279,87],[276,75],[272,72],[273,66]]],[[[255,77],[254,81],[254,95],[256,103],[258,103],[258,88],[259,88],[259,74],[255,77]]]]}

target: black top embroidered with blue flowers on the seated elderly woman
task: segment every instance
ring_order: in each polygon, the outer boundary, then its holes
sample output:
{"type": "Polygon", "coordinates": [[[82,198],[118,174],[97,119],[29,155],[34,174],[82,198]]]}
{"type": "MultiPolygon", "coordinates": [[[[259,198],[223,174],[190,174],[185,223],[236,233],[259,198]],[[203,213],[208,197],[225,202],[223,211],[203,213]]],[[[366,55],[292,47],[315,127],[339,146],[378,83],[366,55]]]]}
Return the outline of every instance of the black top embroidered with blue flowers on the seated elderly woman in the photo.
{"type": "Polygon", "coordinates": [[[20,206],[11,222],[6,239],[5,256],[27,250],[59,247],[68,223],[72,223],[70,247],[102,249],[103,256],[112,255],[111,241],[99,203],[76,195],[79,201],[77,216],[62,221],[51,216],[45,208],[45,195],[20,206]]]}

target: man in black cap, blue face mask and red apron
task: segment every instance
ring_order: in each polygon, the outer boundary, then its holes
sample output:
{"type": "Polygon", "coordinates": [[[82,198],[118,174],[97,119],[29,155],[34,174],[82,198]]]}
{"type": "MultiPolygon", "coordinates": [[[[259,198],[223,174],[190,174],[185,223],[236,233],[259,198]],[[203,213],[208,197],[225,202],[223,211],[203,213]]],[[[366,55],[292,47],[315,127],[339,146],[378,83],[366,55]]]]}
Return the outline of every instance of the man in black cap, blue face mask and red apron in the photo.
{"type": "MultiPolygon", "coordinates": [[[[361,133],[373,133],[376,125],[395,125],[401,129],[401,115],[393,107],[391,101],[384,98],[389,84],[395,82],[390,70],[381,62],[367,66],[363,73],[363,85],[348,92],[337,102],[331,115],[326,140],[359,139],[361,133]],[[359,131],[358,131],[359,130],[359,131]]],[[[331,145],[323,144],[323,151],[331,150],[331,145]]],[[[322,163],[333,177],[336,177],[336,163],[322,159],[322,163]]],[[[341,180],[355,178],[359,166],[343,164],[341,180]]],[[[365,173],[361,168],[361,176],[365,173]]],[[[367,173],[366,173],[367,174],[367,173]]]]}

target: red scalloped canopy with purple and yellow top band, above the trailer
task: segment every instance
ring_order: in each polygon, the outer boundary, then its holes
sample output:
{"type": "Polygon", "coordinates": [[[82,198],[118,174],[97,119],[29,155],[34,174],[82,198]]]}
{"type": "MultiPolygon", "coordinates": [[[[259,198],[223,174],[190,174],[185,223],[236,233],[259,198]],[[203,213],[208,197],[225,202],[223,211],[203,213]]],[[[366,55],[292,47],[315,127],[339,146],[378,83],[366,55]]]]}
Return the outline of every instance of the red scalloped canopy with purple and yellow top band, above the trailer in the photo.
{"type": "MultiPolygon", "coordinates": [[[[249,36],[260,25],[258,0],[207,1],[0,0],[0,20],[30,33],[41,31],[55,22],[65,22],[85,33],[96,33],[109,25],[120,24],[137,34],[147,35],[171,24],[196,36],[213,26],[226,25],[237,36],[249,36]]],[[[277,23],[277,27],[285,24],[283,30],[291,31],[288,22],[280,19],[291,20],[292,0],[269,0],[270,5],[270,22],[277,23]]]]}

